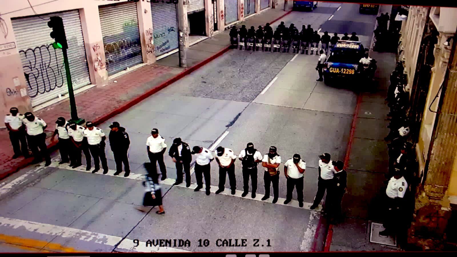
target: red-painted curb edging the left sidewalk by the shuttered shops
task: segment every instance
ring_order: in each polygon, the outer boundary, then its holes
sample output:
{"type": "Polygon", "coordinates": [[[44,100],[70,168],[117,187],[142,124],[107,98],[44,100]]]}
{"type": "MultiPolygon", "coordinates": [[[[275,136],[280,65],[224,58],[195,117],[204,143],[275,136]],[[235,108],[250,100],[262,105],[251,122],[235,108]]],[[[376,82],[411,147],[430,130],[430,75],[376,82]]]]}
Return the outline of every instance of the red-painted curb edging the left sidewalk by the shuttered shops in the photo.
{"type": "MultiPolygon", "coordinates": [[[[285,14],[283,14],[282,16],[279,16],[278,18],[276,18],[275,20],[271,21],[270,23],[273,23],[273,22],[281,19],[282,17],[287,16],[291,12],[292,12],[292,10],[287,11],[285,14]]],[[[184,76],[191,74],[195,70],[198,70],[203,65],[205,65],[205,64],[211,62],[212,60],[218,58],[222,54],[226,53],[228,50],[230,50],[230,45],[227,45],[225,48],[223,48],[222,50],[220,50],[218,53],[214,54],[213,56],[209,57],[208,59],[205,59],[205,60],[201,61],[200,63],[198,63],[198,64],[196,64],[196,65],[194,65],[194,66],[192,66],[190,68],[187,68],[186,70],[183,70],[181,73],[175,75],[174,77],[172,77],[169,80],[166,80],[165,82],[163,82],[159,86],[154,87],[153,89],[147,91],[143,95],[138,96],[137,98],[134,98],[134,99],[130,100],[129,102],[127,102],[124,105],[122,105],[121,107],[118,107],[118,108],[114,109],[112,112],[109,112],[109,113],[101,116],[100,118],[97,118],[97,119],[93,120],[92,122],[95,125],[99,125],[101,123],[104,123],[108,119],[116,116],[117,114],[119,114],[121,112],[126,111],[128,108],[133,107],[138,102],[141,102],[144,99],[148,98],[149,96],[152,96],[156,92],[158,92],[158,91],[164,89],[165,87],[173,84],[174,82],[180,80],[184,76]]],[[[48,151],[54,151],[54,150],[57,150],[57,143],[49,144],[48,145],[48,151]]],[[[22,168],[25,168],[25,167],[29,166],[30,163],[32,163],[32,160],[33,160],[32,158],[28,158],[28,159],[20,161],[19,164],[17,166],[15,166],[14,168],[11,168],[10,170],[6,171],[5,173],[0,174],[0,180],[4,179],[5,177],[10,176],[13,173],[16,173],[17,171],[21,170],[22,168]]]]}

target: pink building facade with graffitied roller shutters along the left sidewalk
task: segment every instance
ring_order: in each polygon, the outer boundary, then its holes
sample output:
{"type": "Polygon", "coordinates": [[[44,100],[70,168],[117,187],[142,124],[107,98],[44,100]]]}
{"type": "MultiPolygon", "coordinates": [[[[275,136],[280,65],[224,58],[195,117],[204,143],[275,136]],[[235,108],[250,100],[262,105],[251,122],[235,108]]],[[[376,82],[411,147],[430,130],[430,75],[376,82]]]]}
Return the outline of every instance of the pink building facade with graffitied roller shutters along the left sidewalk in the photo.
{"type": "Polygon", "coordinates": [[[0,115],[13,106],[22,113],[36,111],[68,97],[62,50],[51,45],[51,16],[63,19],[73,88],[79,93],[272,5],[272,0],[15,0],[0,5],[0,115]]]}

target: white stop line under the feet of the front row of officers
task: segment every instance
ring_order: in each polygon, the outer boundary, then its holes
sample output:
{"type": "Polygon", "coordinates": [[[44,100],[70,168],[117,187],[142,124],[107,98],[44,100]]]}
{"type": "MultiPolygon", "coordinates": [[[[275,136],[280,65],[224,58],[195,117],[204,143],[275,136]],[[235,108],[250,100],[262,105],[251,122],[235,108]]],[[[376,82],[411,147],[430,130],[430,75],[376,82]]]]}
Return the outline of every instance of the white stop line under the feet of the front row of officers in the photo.
{"type": "MultiPolygon", "coordinates": [[[[228,131],[226,131],[226,132],[228,132],[228,131]]],[[[76,169],[72,169],[67,163],[59,165],[58,162],[52,162],[50,166],[58,167],[59,169],[67,169],[67,170],[72,170],[72,171],[83,171],[83,172],[87,172],[87,173],[92,173],[92,171],[86,171],[85,167],[83,167],[83,166],[80,166],[80,167],[78,167],[76,169]]],[[[115,170],[108,170],[108,173],[103,174],[101,171],[98,171],[95,174],[99,174],[99,175],[103,175],[103,176],[128,178],[128,179],[133,179],[133,180],[143,180],[143,176],[144,176],[143,174],[139,174],[139,173],[130,173],[130,175],[128,177],[123,177],[122,174],[124,174],[124,173],[121,173],[121,174],[119,174],[117,176],[114,176],[114,172],[116,172],[116,171],[115,170]]],[[[175,179],[167,178],[167,179],[165,179],[163,181],[160,181],[159,183],[160,184],[164,184],[164,185],[172,186],[173,184],[175,184],[175,182],[176,182],[175,179]]],[[[186,182],[182,182],[181,184],[176,185],[175,187],[183,187],[183,188],[189,188],[189,189],[193,190],[193,189],[197,188],[197,184],[196,183],[191,183],[190,187],[186,187],[186,182]]],[[[218,191],[218,189],[219,189],[218,186],[211,186],[210,192],[211,193],[216,193],[216,191],[218,191]]],[[[205,188],[203,187],[202,189],[200,189],[200,191],[205,191],[205,188]]],[[[249,199],[249,200],[255,200],[255,201],[266,202],[266,203],[271,203],[273,201],[273,197],[272,196],[270,196],[270,198],[266,199],[265,201],[262,201],[261,199],[264,197],[264,195],[263,194],[258,194],[258,193],[256,193],[256,196],[255,196],[254,199],[251,198],[251,193],[249,193],[245,197],[242,197],[241,194],[243,192],[244,191],[241,191],[241,190],[235,190],[235,194],[232,195],[231,190],[229,188],[225,188],[225,190],[223,192],[219,193],[219,194],[228,195],[228,196],[235,196],[235,197],[239,197],[239,198],[245,198],[245,199],[249,199]]],[[[286,200],[285,198],[278,198],[278,202],[275,203],[275,204],[286,205],[286,206],[291,206],[291,207],[295,207],[295,208],[301,208],[300,206],[298,206],[298,201],[297,200],[292,200],[290,203],[284,204],[285,200],[286,200]]],[[[303,208],[302,209],[310,210],[311,205],[313,205],[313,203],[303,203],[303,208]]],[[[319,205],[314,210],[315,211],[320,211],[321,209],[322,209],[322,206],[319,205]]]]}

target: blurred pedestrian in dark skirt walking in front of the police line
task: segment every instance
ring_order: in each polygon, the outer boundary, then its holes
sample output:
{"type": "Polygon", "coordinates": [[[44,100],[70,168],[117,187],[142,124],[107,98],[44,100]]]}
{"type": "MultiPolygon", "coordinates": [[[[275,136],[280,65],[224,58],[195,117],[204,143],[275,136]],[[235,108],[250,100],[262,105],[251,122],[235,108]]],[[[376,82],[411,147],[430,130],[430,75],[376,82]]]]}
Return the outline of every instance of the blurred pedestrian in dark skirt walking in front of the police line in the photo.
{"type": "Polygon", "coordinates": [[[159,206],[159,210],[156,211],[156,214],[165,214],[164,205],[162,203],[162,190],[159,184],[158,175],[154,173],[154,166],[150,162],[143,164],[147,174],[144,175],[143,187],[146,187],[146,193],[143,197],[143,207],[137,208],[142,212],[146,212],[147,207],[159,206]]]}

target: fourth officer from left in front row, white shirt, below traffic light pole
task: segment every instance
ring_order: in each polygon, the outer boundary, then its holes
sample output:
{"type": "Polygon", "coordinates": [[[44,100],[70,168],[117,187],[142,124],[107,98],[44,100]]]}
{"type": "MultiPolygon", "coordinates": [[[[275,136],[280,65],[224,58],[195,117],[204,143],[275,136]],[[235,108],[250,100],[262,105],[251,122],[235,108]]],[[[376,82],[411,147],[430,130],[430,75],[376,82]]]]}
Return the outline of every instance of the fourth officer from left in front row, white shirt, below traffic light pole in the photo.
{"type": "Polygon", "coordinates": [[[89,152],[89,144],[87,144],[87,138],[84,137],[84,130],[83,126],[80,126],[76,123],[70,123],[67,127],[68,135],[71,139],[71,158],[74,160],[74,165],[71,166],[72,168],[77,168],[82,165],[81,162],[81,151],[84,152],[85,159],[86,159],[86,171],[90,171],[90,152],[89,152]]]}

